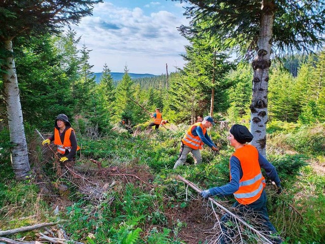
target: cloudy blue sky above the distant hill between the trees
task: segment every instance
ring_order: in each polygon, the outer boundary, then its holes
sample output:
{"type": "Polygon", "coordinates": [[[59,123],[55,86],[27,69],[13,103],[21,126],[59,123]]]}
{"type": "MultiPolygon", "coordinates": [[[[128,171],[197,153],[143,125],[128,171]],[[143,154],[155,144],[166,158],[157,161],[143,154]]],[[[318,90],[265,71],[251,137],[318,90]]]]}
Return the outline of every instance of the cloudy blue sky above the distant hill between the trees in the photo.
{"type": "Polygon", "coordinates": [[[112,72],[166,73],[183,67],[179,55],[188,42],[177,31],[188,24],[184,4],[166,0],[104,0],[94,7],[93,15],[73,25],[90,52],[94,72],[102,72],[107,63],[112,72]]]}

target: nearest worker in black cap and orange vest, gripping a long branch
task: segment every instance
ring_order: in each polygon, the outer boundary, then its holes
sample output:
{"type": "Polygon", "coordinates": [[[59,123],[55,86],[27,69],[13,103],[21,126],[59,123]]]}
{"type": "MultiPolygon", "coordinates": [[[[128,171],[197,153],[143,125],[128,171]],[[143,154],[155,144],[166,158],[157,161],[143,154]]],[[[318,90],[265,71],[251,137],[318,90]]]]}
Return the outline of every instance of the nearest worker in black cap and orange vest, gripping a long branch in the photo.
{"type": "MultiPolygon", "coordinates": [[[[227,196],[234,194],[236,202],[233,207],[241,213],[254,212],[263,223],[263,231],[268,234],[276,233],[270,222],[266,207],[267,198],[264,191],[265,178],[261,168],[264,168],[268,177],[275,182],[280,193],[281,185],[275,167],[258,153],[256,147],[246,144],[251,142],[253,135],[245,126],[233,125],[230,129],[228,140],[235,147],[235,153],[230,158],[230,182],[222,187],[214,187],[201,193],[202,197],[227,196]]],[[[224,233],[220,236],[220,243],[230,243],[235,234],[225,224],[231,219],[229,214],[222,216],[221,229],[224,233]]],[[[274,237],[275,243],[281,243],[280,237],[274,237]]]]}

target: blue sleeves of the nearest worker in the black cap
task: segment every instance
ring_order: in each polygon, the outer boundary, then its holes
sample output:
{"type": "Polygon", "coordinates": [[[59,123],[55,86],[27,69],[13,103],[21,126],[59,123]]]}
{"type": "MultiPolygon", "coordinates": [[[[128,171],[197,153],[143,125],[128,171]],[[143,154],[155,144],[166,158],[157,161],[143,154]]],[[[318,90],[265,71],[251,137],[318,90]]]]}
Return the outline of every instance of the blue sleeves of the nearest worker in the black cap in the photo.
{"type": "MultiPolygon", "coordinates": [[[[280,178],[276,172],[275,167],[260,153],[258,153],[258,163],[261,168],[265,169],[268,177],[270,177],[278,187],[281,187],[280,178]]],[[[238,191],[239,180],[243,177],[243,170],[240,165],[240,161],[236,156],[232,156],[230,158],[230,174],[232,176],[232,179],[228,184],[222,187],[214,187],[209,189],[212,195],[228,196],[238,191]]]]}

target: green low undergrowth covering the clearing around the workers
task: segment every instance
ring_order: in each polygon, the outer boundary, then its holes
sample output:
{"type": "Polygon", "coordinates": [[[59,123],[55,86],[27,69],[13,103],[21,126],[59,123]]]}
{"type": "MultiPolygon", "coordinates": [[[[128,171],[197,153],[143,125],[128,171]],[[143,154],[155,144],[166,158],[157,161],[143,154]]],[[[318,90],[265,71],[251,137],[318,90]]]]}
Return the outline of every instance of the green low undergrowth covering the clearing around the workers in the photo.
{"type": "MultiPolygon", "coordinates": [[[[277,195],[271,186],[267,187],[270,219],[287,243],[324,243],[325,178],[316,175],[308,165],[310,157],[318,157],[323,150],[320,138],[323,131],[319,129],[323,125],[318,129],[276,123],[271,126],[272,136],[268,143],[276,145],[281,153],[271,151],[268,159],[277,168],[283,192],[277,195]],[[288,155],[286,150],[296,150],[300,154],[288,155]]],[[[77,135],[78,143],[82,145],[79,165],[92,158],[100,161],[103,167],[149,166],[155,187],[148,190],[139,185],[117,182],[96,204],[72,191],[74,195],[70,199],[74,203],[60,213],[60,218],[69,220],[64,224],[67,234],[72,239],[91,244],[181,243],[179,233],[186,228],[186,222],[171,218],[170,211],[188,208],[189,200],[198,194],[177,180],[176,175],[182,175],[203,190],[222,186],[229,182],[229,157],[233,153],[233,148],[226,143],[225,133],[213,131],[212,138],[221,148],[221,154],[213,154],[205,147],[201,151],[203,164],[194,165],[188,157],[184,166],[173,170],[183,133],[181,127],[177,131],[161,129],[158,133],[137,132],[136,135],[110,131],[96,140],[77,135]]],[[[6,136],[6,131],[0,132],[0,138],[6,136]]],[[[30,224],[28,219],[17,219],[35,215],[35,210],[32,210],[35,206],[42,212],[39,219],[51,219],[53,206],[39,198],[39,189],[32,179],[16,182],[13,174],[6,175],[6,172],[11,172],[9,145],[2,147],[5,149],[0,149],[0,153],[6,166],[0,170],[0,207],[17,207],[9,214],[0,211],[3,228],[30,224]]],[[[49,168],[46,170],[51,174],[49,168]]],[[[227,200],[232,203],[234,198],[227,200]]]]}

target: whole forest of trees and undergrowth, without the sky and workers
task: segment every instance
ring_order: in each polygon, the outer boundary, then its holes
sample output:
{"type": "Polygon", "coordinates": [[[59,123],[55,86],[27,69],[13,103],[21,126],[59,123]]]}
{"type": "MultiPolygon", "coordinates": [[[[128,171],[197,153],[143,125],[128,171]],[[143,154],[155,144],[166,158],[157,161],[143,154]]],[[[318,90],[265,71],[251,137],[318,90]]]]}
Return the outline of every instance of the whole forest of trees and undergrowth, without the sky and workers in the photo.
{"type": "MultiPolygon", "coordinates": [[[[62,26],[102,1],[66,2],[0,3],[0,243],[219,243],[235,199],[194,188],[230,181],[235,124],[278,172],[280,194],[263,175],[282,243],[325,243],[323,1],[186,1],[183,68],[132,79],[125,66],[115,82],[103,63],[99,83],[92,50],[62,26]],[[158,131],[149,128],[156,108],[169,121],[158,131]],[[42,145],[62,113],[80,146],[72,163],[42,145]],[[174,170],[201,115],[214,118],[219,152],[204,146],[202,164],[187,157],[174,170]]],[[[230,243],[275,243],[240,219],[230,243]]]]}

